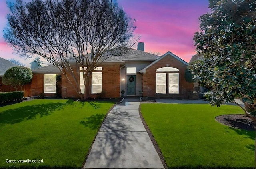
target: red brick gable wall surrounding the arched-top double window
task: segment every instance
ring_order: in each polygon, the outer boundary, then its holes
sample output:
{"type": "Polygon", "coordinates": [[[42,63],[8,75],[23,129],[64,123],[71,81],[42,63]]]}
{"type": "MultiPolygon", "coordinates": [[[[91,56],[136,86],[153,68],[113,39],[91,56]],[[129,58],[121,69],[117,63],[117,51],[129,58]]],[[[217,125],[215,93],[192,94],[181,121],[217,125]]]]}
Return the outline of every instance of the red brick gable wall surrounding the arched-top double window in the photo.
{"type": "Polygon", "coordinates": [[[146,69],[146,73],[142,76],[142,88],[143,96],[170,98],[170,99],[188,99],[188,92],[193,91],[193,84],[186,82],[185,71],[187,66],[173,58],[170,55],[166,55],[164,58],[156,62],[154,65],[146,69]],[[156,69],[166,67],[174,67],[179,69],[179,94],[156,94],[156,69]]]}

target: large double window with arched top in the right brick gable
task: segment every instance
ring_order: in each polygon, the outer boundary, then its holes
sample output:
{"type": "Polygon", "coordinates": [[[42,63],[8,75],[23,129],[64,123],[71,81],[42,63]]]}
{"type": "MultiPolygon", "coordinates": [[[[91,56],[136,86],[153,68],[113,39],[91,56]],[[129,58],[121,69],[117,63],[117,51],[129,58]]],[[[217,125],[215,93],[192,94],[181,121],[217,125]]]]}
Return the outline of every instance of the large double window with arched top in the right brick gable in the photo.
{"type": "Polygon", "coordinates": [[[157,94],[178,94],[179,93],[179,73],[177,68],[163,67],[156,70],[156,93],[157,94]],[[168,86],[167,86],[168,84],[168,86]]]}

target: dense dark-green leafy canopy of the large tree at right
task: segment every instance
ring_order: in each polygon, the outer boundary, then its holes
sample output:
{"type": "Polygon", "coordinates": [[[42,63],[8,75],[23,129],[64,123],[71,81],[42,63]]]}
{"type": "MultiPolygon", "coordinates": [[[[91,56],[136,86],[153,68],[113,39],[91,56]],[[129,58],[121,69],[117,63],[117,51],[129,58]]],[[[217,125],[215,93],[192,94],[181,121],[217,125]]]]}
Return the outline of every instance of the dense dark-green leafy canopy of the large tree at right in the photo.
{"type": "Polygon", "coordinates": [[[209,8],[194,36],[204,61],[193,74],[213,88],[206,95],[212,105],[241,99],[245,105],[241,108],[252,117],[256,112],[255,0],[209,0],[209,8]]]}

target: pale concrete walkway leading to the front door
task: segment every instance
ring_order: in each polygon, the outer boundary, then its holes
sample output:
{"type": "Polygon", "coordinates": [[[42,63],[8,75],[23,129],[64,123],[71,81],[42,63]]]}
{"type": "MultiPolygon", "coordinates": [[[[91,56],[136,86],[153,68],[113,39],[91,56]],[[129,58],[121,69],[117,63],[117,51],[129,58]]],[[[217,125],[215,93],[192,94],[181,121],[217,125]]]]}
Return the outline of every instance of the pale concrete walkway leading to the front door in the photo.
{"type": "Polygon", "coordinates": [[[140,100],[126,98],[104,120],[84,168],[164,169],[139,115],[140,100]]]}

